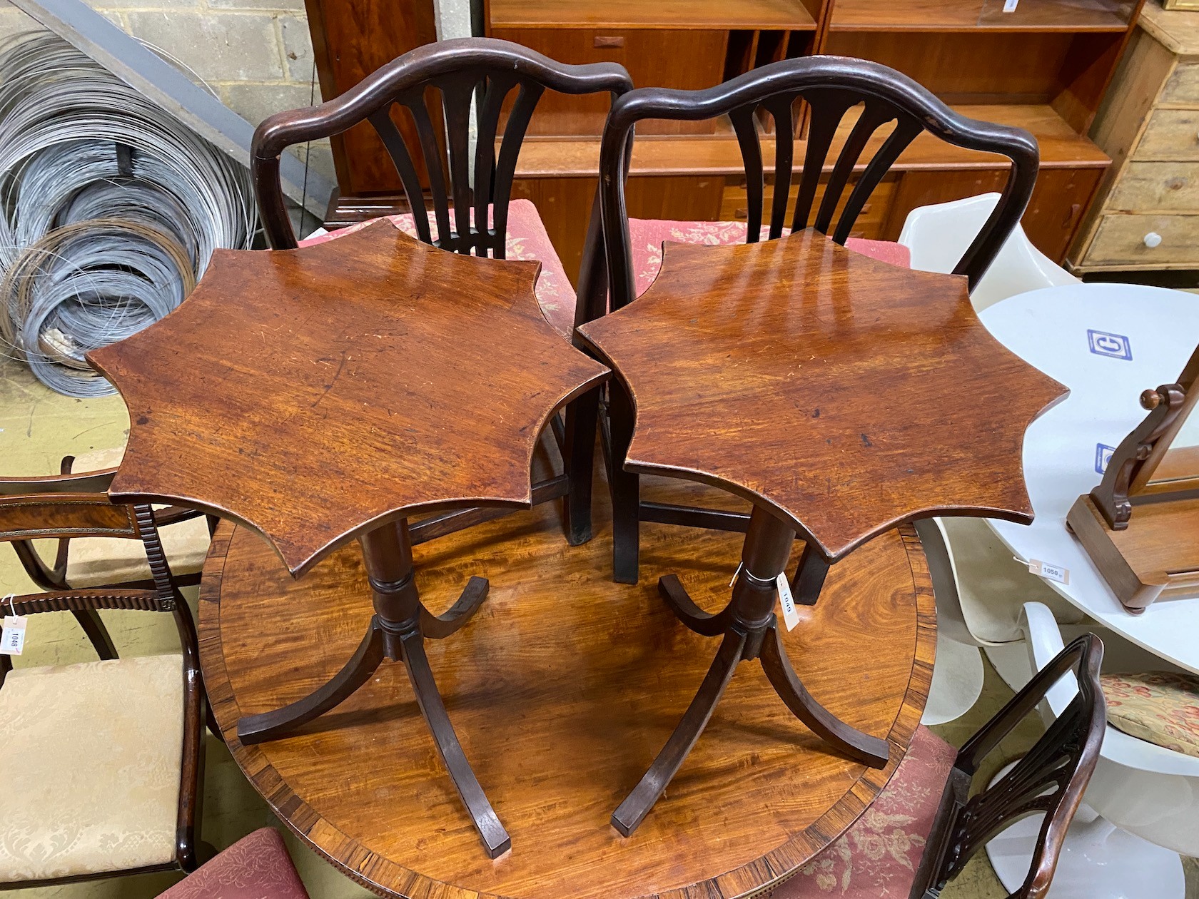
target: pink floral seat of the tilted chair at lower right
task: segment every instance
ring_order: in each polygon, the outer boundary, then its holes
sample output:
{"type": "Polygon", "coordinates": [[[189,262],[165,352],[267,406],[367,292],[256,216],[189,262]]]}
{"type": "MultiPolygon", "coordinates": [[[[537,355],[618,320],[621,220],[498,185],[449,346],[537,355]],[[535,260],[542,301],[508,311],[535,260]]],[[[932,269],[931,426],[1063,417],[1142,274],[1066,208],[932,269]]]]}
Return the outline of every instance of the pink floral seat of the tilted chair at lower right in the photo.
{"type": "Polygon", "coordinates": [[[766,893],[772,899],[908,899],[957,750],[917,728],[891,783],[854,826],[766,893]]]}

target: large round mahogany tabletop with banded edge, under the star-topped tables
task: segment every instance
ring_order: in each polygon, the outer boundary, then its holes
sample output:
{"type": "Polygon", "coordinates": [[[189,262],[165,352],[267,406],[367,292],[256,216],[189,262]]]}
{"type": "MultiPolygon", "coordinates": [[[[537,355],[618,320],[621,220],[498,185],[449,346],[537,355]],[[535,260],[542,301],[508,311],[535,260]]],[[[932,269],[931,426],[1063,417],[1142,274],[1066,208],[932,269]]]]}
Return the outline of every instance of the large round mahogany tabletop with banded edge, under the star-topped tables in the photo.
{"type": "MultiPolygon", "coordinates": [[[[664,489],[673,501],[713,501],[699,484],[664,489]]],[[[711,645],[652,580],[611,581],[607,508],[596,538],[570,547],[553,506],[414,548],[430,596],[452,595],[468,574],[490,580],[475,619],[456,640],[430,641],[428,658],[511,851],[494,861],[480,851],[403,665],[382,664],[291,736],[239,742],[242,716],[308,694],[361,640],[372,608],[354,544],[294,580],[260,536],[218,529],[200,590],[200,657],[234,758],[289,827],[381,895],[742,897],[778,882],[864,811],[918,724],[936,639],[914,531],[882,533],[835,566],[820,602],[783,638],[830,712],[887,736],[887,766],[833,750],[760,666],[745,665],[655,813],[625,838],[611,810],[687,707],[711,645]]],[[[677,573],[711,610],[727,602],[742,539],[646,526],[641,563],[677,573]]],[[[796,542],[794,559],[801,551],[796,542]]]]}

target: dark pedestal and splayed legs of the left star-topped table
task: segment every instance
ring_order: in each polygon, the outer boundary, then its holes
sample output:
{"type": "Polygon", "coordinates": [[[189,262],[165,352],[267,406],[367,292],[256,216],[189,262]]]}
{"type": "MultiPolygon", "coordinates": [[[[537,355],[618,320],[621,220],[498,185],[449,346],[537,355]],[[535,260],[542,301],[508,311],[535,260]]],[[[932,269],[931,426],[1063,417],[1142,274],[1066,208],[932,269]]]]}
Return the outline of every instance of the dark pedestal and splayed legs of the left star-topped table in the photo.
{"type": "Polygon", "coordinates": [[[512,839],[466,761],[424,654],[427,638],[450,636],[478,610],[487,598],[487,579],[471,578],[444,615],[433,615],[416,590],[408,520],[376,527],[363,535],[361,543],[375,614],[357,651],[331,681],[303,699],[273,712],[241,718],[237,738],[248,746],[285,736],[353,695],[370,680],[385,658],[403,660],[441,760],[475,821],[488,856],[495,858],[511,847],[512,839]]]}

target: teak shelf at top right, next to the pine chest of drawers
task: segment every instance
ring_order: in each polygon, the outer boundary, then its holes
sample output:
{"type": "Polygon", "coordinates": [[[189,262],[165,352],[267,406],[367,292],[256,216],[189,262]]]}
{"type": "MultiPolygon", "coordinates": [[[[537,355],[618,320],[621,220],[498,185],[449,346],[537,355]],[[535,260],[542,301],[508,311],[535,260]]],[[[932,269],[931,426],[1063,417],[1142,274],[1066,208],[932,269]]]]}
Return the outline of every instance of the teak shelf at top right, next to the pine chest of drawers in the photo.
{"type": "Polygon", "coordinates": [[[1123,32],[1127,0],[837,0],[830,31],[1065,31],[1123,32]]]}

